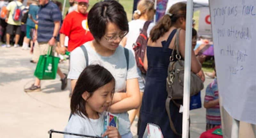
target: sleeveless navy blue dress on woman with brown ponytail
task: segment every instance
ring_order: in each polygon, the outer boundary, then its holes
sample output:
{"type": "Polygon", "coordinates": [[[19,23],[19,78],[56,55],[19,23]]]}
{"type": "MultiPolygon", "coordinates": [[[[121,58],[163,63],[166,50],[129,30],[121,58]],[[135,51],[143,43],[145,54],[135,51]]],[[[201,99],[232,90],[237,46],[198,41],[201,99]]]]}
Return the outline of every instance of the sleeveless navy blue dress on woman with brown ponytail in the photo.
{"type": "MultiPolygon", "coordinates": [[[[167,98],[166,77],[169,65],[169,58],[172,49],[169,48],[170,42],[176,33],[176,29],[172,31],[169,38],[163,41],[163,47],[147,46],[148,70],[142,105],[140,109],[140,131],[139,138],[142,138],[147,123],[158,125],[164,138],[181,138],[172,132],[170,127],[168,114],[165,109],[165,100],[167,98]]],[[[182,104],[182,100],[175,100],[178,104],[182,104]]],[[[179,108],[170,102],[171,118],[176,131],[181,134],[182,131],[182,113],[179,108]]]]}

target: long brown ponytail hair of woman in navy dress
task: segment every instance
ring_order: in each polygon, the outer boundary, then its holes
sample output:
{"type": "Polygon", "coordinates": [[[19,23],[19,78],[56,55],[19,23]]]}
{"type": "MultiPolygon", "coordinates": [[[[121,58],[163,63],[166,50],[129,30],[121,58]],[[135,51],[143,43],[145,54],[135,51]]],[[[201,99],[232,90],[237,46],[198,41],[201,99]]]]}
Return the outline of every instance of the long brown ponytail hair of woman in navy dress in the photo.
{"type": "Polygon", "coordinates": [[[150,38],[153,42],[156,42],[156,40],[163,36],[178,18],[186,18],[186,4],[182,2],[173,4],[168,12],[172,16],[164,15],[150,31],[150,38]]]}

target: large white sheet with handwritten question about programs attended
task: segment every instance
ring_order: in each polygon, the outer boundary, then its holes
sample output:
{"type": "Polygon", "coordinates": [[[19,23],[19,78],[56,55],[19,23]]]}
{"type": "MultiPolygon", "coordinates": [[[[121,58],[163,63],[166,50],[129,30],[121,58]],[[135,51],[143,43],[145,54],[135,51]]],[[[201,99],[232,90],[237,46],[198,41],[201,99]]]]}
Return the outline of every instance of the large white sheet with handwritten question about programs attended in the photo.
{"type": "Polygon", "coordinates": [[[210,0],[210,12],[223,107],[256,124],[256,1],[210,0]]]}

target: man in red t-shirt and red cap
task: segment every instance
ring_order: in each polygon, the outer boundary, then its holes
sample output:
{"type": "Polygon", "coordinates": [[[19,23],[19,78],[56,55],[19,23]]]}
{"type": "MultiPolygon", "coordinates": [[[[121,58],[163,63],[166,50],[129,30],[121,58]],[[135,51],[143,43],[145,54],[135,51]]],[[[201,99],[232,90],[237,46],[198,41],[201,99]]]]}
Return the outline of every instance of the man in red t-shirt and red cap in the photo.
{"type": "Polygon", "coordinates": [[[87,41],[93,40],[93,36],[87,25],[88,0],[77,0],[77,10],[70,12],[63,21],[60,29],[60,53],[65,54],[64,40],[68,36],[68,51],[71,52],[76,47],[87,41]]]}

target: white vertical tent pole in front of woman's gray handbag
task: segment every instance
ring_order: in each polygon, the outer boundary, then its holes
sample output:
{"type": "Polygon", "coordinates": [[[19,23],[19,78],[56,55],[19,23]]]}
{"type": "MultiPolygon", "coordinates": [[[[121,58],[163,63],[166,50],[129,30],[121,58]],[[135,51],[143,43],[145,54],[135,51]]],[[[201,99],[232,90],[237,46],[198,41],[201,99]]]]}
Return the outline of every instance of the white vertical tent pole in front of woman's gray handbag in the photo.
{"type": "Polygon", "coordinates": [[[186,42],[184,65],[184,95],[183,95],[183,120],[182,138],[188,138],[189,134],[189,100],[190,100],[190,72],[191,72],[191,44],[192,44],[192,16],[193,0],[187,1],[186,13],[186,42]]]}

